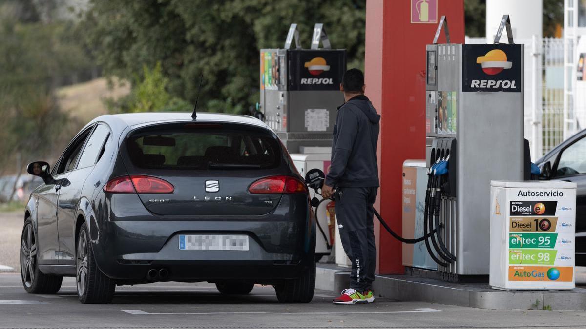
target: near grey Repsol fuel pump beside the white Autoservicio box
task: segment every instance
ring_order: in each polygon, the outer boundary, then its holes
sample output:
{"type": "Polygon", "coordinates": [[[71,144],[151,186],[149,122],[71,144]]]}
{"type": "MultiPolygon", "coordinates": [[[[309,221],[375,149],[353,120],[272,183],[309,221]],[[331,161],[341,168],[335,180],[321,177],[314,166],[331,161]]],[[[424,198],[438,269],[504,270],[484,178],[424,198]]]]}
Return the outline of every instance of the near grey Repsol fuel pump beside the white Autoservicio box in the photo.
{"type": "Polygon", "coordinates": [[[435,230],[425,247],[444,279],[488,275],[490,180],[529,179],[523,50],[508,15],[493,44],[450,43],[443,16],[426,47],[423,232],[435,230]]]}

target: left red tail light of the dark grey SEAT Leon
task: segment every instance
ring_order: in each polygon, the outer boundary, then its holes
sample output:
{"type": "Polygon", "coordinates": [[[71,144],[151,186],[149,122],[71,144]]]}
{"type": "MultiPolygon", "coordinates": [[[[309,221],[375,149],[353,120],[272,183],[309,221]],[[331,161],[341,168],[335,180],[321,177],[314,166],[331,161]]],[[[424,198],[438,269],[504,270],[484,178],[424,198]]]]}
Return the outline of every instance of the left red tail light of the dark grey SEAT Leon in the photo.
{"type": "Polygon", "coordinates": [[[143,175],[117,177],[104,186],[104,191],[110,193],[173,193],[174,190],[166,180],[143,175]]]}

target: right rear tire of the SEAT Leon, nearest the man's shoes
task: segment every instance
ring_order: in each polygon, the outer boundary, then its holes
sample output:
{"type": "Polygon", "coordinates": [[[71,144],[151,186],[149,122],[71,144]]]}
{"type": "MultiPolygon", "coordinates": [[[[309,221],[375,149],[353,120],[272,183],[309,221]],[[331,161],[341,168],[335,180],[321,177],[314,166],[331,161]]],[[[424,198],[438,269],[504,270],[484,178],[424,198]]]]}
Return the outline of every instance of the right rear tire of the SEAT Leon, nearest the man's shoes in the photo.
{"type": "MultiPolygon", "coordinates": [[[[313,260],[313,259],[312,259],[313,260]]],[[[309,303],[314,298],[315,262],[309,262],[300,277],[275,285],[280,303],[309,303]]]]}

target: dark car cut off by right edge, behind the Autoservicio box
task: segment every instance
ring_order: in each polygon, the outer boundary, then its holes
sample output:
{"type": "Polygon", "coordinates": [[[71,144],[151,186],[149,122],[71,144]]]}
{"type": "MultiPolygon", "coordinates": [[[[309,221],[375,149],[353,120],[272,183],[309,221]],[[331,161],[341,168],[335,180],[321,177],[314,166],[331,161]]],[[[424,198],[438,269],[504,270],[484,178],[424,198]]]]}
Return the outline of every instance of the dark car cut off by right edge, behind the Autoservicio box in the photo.
{"type": "Polygon", "coordinates": [[[573,181],[576,191],[577,266],[586,266],[586,129],[571,136],[536,161],[540,179],[573,181]]]}

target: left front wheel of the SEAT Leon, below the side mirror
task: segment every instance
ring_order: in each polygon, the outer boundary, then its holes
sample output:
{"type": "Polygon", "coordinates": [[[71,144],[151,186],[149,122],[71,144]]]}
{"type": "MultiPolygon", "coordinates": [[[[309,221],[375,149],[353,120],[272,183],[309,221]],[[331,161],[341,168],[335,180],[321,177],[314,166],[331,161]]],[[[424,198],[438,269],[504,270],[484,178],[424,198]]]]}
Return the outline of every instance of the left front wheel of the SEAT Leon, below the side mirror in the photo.
{"type": "Polygon", "coordinates": [[[26,218],[21,234],[21,279],[26,292],[54,294],[61,289],[63,276],[46,275],[39,270],[35,231],[30,217],[26,218]]]}

